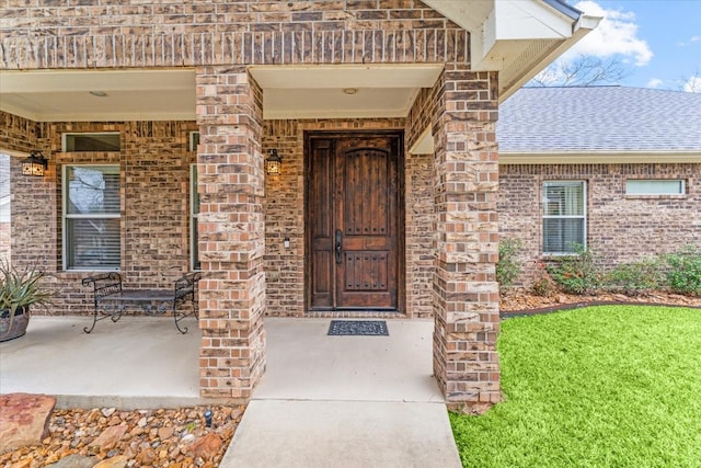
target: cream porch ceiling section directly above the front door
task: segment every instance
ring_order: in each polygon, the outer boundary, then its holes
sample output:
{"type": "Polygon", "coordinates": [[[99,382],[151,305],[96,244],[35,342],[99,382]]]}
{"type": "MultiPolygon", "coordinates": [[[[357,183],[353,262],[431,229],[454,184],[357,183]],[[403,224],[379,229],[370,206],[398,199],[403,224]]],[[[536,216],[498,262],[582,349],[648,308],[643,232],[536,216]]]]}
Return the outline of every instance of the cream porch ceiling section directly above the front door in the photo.
{"type": "Polygon", "coordinates": [[[263,118],[404,117],[443,65],[251,66],[263,118]],[[345,91],[344,91],[345,90],[345,91]]]}

